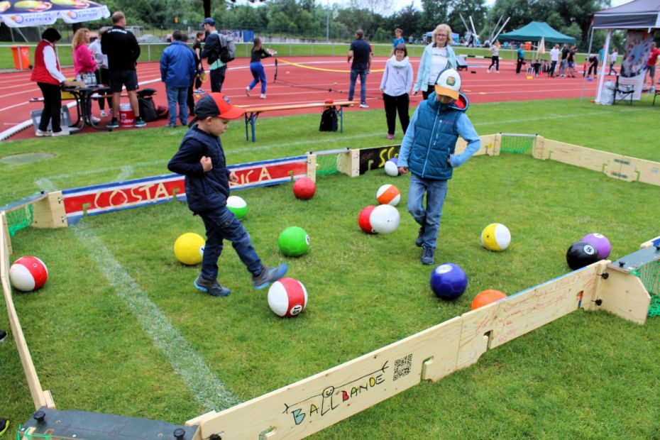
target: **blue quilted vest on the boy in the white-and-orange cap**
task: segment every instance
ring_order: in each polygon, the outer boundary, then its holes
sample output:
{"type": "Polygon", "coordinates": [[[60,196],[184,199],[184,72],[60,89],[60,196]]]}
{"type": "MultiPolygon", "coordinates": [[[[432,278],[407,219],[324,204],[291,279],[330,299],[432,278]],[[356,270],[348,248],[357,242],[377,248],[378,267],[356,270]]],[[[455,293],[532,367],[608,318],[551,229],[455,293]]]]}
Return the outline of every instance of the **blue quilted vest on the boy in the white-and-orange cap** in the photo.
{"type": "Polygon", "coordinates": [[[412,151],[408,160],[411,172],[424,179],[449,180],[453,173],[447,158],[456,150],[456,120],[468,108],[467,98],[458,98],[464,106],[441,105],[435,92],[419,103],[414,124],[412,151]]]}

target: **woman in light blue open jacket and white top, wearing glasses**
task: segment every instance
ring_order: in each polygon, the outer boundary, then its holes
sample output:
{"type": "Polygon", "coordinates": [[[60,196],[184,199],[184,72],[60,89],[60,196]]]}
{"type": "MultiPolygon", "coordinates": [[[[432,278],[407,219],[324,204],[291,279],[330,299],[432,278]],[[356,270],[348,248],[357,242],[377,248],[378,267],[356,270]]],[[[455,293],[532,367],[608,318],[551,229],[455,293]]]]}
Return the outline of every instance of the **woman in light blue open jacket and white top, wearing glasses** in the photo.
{"type": "Polygon", "coordinates": [[[417,81],[412,87],[412,94],[416,95],[422,90],[422,96],[427,99],[433,92],[440,72],[445,69],[456,69],[456,55],[449,42],[451,41],[451,28],[448,24],[439,24],[433,31],[433,41],[424,48],[422,60],[419,61],[417,81]]]}

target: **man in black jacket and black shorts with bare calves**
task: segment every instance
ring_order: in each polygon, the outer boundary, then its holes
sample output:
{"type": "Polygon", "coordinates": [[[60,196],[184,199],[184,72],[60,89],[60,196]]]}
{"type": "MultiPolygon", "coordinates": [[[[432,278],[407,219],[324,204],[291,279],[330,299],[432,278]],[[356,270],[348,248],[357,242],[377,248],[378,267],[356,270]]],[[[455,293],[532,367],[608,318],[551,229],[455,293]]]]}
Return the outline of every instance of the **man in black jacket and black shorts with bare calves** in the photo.
{"type": "Polygon", "coordinates": [[[143,127],[147,123],[140,117],[138,106],[138,74],[136,65],[140,57],[140,45],[131,31],[126,31],[126,16],[116,11],[112,14],[112,27],[101,38],[101,52],[108,55],[108,70],[110,92],[112,92],[112,119],[108,128],[119,127],[117,115],[119,114],[119,97],[121,88],[126,86],[128,100],[136,115],[136,127],[143,127]]]}

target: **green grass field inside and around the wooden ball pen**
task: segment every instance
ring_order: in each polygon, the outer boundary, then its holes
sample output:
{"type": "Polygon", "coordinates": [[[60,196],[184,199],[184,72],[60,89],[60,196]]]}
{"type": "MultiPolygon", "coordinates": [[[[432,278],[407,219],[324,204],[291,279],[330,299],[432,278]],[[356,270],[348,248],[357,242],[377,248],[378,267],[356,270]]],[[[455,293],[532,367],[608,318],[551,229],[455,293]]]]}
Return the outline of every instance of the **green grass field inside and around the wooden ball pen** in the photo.
{"type": "MultiPolygon", "coordinates": [[[[660,108],[578,100],[478,104],[480,134],[546,138],[660,161],[654,126],[660,108]]],[[[383,111],[351,111],[344,133],[317,131],[319,114],[259,120],[260,141],[243,123],[223,136],[229,163],[307,150],[388,145],[383,111]]],[[[1,155],[53,153],[29,165],[0,163],[0,204],[38,189],[66,189],[166,174],[184,130],[153,128],[5,142],[1,155]]],[[[395,141],[400,143],[397,134],[395,141]]],[[[660,235],[660,188],[535,160],[529,154],[478,156],[449,183],[436,263],[460,264],[466,293],[441,302],[419,264],[417,225],[405,210],[408,177],[370,171],[318,177],[317,194],[296,200],[291,185],[248,189],[244,221],[265,263],[287,261],[309,292],[296,319],[270,312],[265,292],[227,246],[220,260],[226,299],[198,293],[199,268],[177,263],[180,233],[203,235],[178,203],[92,216],[67,229],[26,229],[14,254],[38,255],[50,270],[39,292],[14,301],[44,389],[58,409],[82,409],[182,424],[209,409],[258,397],[468,311],[480,290],[513,294],[569,271],[564,255],[586,233],[604,233],[611,258],[660,235]],[[401,189],[399,229],[368,236],[359,211],[380,185],[401,189]],[[512,232],[503,253],[480,246],[494,221],[512,232]],[[301,226],[312,246],[285,258],[277,235],[301,226]],[[205,390],[206,389],[206,390],[205,390]],[[220,390],[209,397],[208,390],[220,390]]],[[[0,328],[8,321],[0,314],[0,328]]],[[[660,436],[660,320],[644,326],[603,312],[573,312],[515,339],[439,383],[422,383],[315,434],[316,439],[649,439],[660,436]]],[[[15,428],[33,412],[16,346],[0,345],[0,417],[15,428]]],[[[266,428],[266,427],[265,427],[266,428]]]]}

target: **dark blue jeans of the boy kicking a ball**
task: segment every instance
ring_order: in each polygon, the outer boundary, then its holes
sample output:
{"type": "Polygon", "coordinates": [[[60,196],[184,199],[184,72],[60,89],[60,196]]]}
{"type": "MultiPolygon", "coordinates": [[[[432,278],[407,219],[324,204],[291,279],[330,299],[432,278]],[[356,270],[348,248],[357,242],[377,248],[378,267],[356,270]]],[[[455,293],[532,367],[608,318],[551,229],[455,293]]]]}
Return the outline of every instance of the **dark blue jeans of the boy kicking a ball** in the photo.
{"type": "Polygon", "coordinates": [[[199,213],[199,216],[202,217],[207,228],[207,243],[202,257],[202,277],[207,280],[215,280],[218,277],[218,258],[222,253],[223,240],[231,241],[238,258],[241,258],[252,275],[260,273],[261,260],[252,246],[250,234],[226,206],[199,213]]]}

